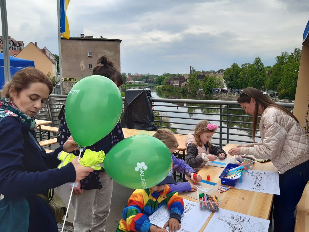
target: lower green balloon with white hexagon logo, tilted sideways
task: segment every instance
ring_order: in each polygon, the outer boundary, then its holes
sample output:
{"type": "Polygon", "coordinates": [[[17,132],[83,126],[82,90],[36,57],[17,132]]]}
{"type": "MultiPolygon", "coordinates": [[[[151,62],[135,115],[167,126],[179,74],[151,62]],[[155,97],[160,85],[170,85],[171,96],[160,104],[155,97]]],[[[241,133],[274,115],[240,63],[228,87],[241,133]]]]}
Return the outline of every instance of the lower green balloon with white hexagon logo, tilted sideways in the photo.
{"type": "Polygon", "coordinates": [[[104,159],[104,169],[117,183],[133,189],[156,186],[171,170],[171,153],[160,140],[135,135],[116,144],[104,159]]]}

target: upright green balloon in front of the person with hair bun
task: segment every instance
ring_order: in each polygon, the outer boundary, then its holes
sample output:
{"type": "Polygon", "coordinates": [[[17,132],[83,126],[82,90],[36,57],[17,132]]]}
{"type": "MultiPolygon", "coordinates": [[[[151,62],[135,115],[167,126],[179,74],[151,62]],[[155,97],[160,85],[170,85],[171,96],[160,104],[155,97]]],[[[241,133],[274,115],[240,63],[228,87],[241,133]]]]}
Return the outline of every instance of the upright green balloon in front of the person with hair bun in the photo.
{"type": "Polygon", "coordinates": [[[74,141],[80,146],[91,146],[111,132],[119,121],[121,93],[105,76],[85,77],[69,92],[65,112],[74,141]]]}

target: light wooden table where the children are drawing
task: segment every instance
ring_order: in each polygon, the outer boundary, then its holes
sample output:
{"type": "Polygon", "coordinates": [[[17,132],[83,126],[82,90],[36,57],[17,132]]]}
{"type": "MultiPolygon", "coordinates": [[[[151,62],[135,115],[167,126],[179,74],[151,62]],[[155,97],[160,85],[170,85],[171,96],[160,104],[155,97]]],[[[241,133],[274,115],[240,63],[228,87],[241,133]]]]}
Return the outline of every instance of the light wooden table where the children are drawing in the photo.
{"type": "MultiPolygon", "coordinates": [[[[237,144],[226,144],[223,149],[228,154],[228,151],[236,146],[237,144]]],[[[232,156],[228,155],[227,158],[232,158],[232,156]]],[[[255,161],[253,164],[253,169],[275,172],[277,171],[271,161],[266,163],[260,163],[255,161]]],[[[202,176],[203,180],[207,180],[207,175],[210,175],[210,181],[217,183],[217,185],[210,185],[209,188],[218,188],[222,185],[221,179],[219,178],[222,171],[223,168],[220,167],[205,166],[198,172],[198,174],[202,176]]],[[[198,202],[198,200],[188,197],[184,194],[180,194],[180,196],[184,199],[198,202]]],[[[229,191],[221,193],[221,198],[222,203],[220,205],[220,208],[269,220],[269,215],[273,204],[273,194],[247,191],[242,189],[236,189],[233,187],[229,191]]],[[[200,232],[205,229],[207,223],[210,221],[213,215],[214,213],[211,213],[210,217],[205,221],[205,224],[201,228],[200,232]]]]}

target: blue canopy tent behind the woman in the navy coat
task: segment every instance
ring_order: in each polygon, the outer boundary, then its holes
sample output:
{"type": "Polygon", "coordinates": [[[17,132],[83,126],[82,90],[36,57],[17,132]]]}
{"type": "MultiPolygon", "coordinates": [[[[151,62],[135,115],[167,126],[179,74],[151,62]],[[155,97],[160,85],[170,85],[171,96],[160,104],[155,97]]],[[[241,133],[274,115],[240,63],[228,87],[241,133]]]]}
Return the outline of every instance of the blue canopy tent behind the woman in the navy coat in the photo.
{"type": "MultiPolygon", "coordinates": [[[[15,74],[18,70],[24,67],[34,67],[33,60],[24,60],[16,57],[10,56],[10,66],[11,66],[11,76],[15,74]]],[[[4,66],[3,66],[3,54],[0,53],[0,89],[4,85],[4,66]]]]}

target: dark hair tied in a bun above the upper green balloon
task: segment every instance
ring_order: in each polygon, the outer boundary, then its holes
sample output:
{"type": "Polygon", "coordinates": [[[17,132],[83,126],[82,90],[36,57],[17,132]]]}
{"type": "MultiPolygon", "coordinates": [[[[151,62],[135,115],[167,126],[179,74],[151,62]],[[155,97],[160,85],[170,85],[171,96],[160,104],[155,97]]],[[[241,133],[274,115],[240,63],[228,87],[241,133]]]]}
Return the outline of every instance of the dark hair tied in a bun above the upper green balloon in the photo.
{"type": "Polygon", "coordinates": [[[98,64],[101,65],[94,67],[92,75],[105,76],[117,84],[118,87],[123,84],[121,73],[114,67],[114,63],[107,59],[107,56],[101,56],[98,59],[98,64]]]}

